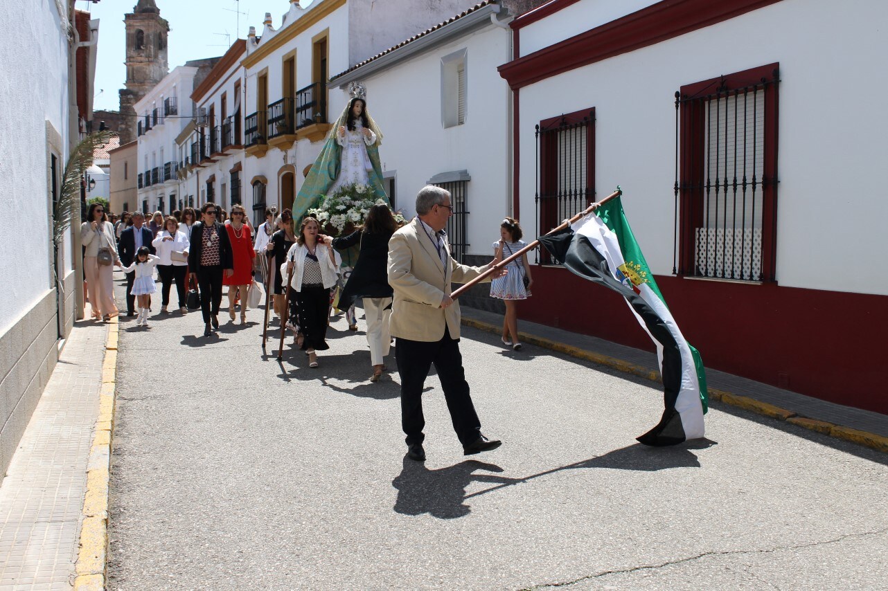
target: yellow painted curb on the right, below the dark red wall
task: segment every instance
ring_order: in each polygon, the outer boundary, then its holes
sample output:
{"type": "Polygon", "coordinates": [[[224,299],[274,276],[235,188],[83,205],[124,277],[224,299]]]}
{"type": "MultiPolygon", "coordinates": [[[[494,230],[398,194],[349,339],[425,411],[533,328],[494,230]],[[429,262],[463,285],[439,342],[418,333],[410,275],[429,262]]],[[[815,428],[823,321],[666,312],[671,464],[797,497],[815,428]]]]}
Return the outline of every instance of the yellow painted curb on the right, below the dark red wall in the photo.
{"type": "MultiPolygon", "coordinates": [[[[496,327],[482,320],[463,318],[462,322],[467,327],[477,328],[488,333],[499,334],[501,330],[501,327],[496,327]]],[[[622,359],[615,359],[613,357],[602,355],[600,353],[585,351],[578,347],[573,347],[565,343],[557,343],[541,336],[528,335],[527,333],[522,332],[519,332],[519,336],[521,337],[521,341],[523,343],[535,344],[538,347],[543,347],[543,349],[558,351],[577,359],[585,359],[587,361],[597,363],[601,366],[613,367],[618,371],[622,371],[627,374],[638,375],[639,377],[643,377],[654,382],[662,382],[659,373],[651,371],[646,367],[637,366],[628,361],[623,361],[622,359]]],[[[796,413],[785,408],[781,408],[780,406],[774,406],[772,404],[768,404],[767,402],[756,400],[755,398],[749,398],[748,396],[742,396],[740,394],[733,394],[732,392],[725,392],[724,390],[709,388],[707,392],[709,393],[710,400],[718,400],[720,402],[724,402],[727,405],[737,406],[739,408],[752,411],[753,413],[772,417],[773,419],[777,419],[778,421],[789,422],[791,424],[797,425],[798,427],[810,429],[818,433],[829,435],[830,437],[836,437],[837,439],[851,441],[852,443],[863,445],[865,447],[869,447],[870,449],[875,449],[879,452],[888,453],[888,437],[876,435],[875,433],[869,433],[868,431],[861,431],[859,429],[851,429],[850,427],[834,425],[831,422],[808,419],[802,416],[798,416],[796,413]]]]}

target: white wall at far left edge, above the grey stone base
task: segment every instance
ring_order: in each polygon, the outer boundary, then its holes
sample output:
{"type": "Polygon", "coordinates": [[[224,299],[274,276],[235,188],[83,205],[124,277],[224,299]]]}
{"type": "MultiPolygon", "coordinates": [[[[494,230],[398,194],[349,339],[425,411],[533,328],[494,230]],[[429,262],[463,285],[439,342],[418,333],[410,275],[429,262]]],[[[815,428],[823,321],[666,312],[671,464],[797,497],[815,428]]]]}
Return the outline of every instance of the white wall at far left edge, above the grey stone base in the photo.
{"type": "MultiPolygon", "coordinates": [[[[52,208],[47,171],[49,122],[61,137],[59,166],[67,161],[67,36],[55,4],[4,5],[0,23],[14,35],[0,35],[0,101],[7,108],[0,134],[0,273],[8,278],[0,298],[0,335],[52,288],[52,208]],[[23,51],[27,49],[27,51],[23,51]],[[16,228],[28,232],[10,232],[16,228]],[[22,272],[28,261],[28,272],[22,272]]],[[[70,250],[70,240],[66,240],[70,250]]],[[[70,269],[71,258],[65,266],[70,269]]]]}

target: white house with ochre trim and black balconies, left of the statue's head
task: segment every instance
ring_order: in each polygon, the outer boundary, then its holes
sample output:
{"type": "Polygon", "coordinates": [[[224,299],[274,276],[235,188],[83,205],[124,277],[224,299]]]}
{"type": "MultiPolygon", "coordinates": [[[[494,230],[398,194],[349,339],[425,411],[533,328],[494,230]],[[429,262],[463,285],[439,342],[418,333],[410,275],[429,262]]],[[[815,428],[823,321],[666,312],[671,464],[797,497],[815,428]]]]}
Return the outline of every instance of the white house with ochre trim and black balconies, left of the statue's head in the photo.
{"type": "MultiPolygon", "coordinates": [[[[266,205],[292,206],[329,123],[345,107],[348,94],[328,86],[331,74],[345,72],[356,60],[369,59],[394,40],[435,27],[473,4],[442,0],[417,10],[415,2],[390,0],[380,10],[369,11],[366,2],[322,0],[303,9],[293,0],[279,28],[266,14],[258,35],[251,33],[247,39],[242,61],[248,181],[244,202],[253,207],[254,219],[261,221],[266,205]]],[[[369,102],[369,112],[385,132],[386,123],[373,104],[369,102]]],[[[383,153],[386,144],[384,139],[383,153]]]]}

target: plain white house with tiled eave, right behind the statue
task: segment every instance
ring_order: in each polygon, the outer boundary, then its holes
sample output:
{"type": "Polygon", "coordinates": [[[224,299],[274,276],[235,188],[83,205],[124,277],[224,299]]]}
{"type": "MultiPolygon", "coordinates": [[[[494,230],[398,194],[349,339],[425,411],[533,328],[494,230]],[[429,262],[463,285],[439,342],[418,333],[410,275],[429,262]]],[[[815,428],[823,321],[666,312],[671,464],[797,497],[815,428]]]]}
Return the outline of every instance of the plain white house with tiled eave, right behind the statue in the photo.
{"type": "Polygon", "coordinates": [[[344,97],[353,82],[366,87],[395,209],[414,216],[427,184],[450,191],[451,250],[472,264],[489,262],[511,211],[511,91],[496,73],[511,57],[509,20],[497,2],[480,3],[330,83],[344,97]]]}

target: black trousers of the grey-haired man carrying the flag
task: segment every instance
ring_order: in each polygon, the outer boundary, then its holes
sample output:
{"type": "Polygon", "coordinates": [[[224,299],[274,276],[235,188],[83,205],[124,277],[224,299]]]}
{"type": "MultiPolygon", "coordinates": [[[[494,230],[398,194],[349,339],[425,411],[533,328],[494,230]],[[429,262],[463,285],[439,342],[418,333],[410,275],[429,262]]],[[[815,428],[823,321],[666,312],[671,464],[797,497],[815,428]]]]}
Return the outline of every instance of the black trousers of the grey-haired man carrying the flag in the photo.
{"type": "Polygon", "coordinates": [[[395,340],[395,355],[400,375],[400,424],[407,434],[408,445],[422,443],[425,438],[423,385],[432,363],[444,390],[456,437],[463,445],[480,437],[481,423],[472,404],[469,384],[465,381],[459,341],[450,338],[447,329],[444,338],[433,343],[398,338],[395,340]]]}

